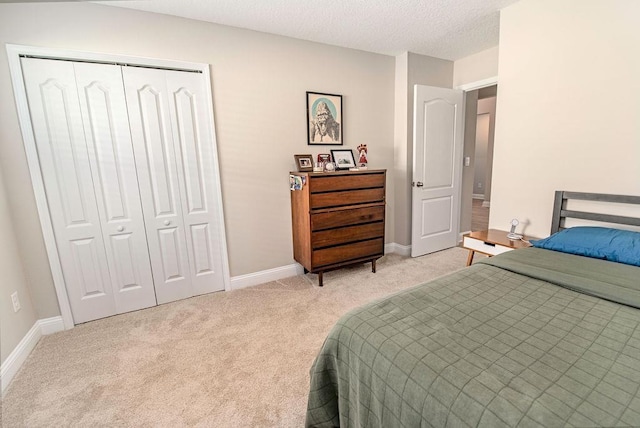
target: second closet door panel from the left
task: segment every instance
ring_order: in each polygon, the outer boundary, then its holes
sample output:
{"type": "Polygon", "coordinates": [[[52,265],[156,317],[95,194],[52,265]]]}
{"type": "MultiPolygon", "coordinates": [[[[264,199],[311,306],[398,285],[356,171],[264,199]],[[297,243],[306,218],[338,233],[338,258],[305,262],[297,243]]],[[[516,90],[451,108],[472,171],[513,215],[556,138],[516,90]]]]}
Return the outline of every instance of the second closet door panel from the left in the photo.
{"type": "Polygon", "coordinates": [[[116,312],[156,304],[121,67],[74,63],[116,312]]]}

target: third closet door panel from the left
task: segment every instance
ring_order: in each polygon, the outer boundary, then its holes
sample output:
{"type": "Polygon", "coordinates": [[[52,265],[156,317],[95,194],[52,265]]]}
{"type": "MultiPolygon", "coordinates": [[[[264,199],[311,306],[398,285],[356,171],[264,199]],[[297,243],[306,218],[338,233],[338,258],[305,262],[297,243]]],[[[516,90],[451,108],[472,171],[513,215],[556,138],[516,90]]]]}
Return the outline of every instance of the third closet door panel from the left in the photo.
{"type": "Polygon", "coordinates": [[[158,303],[193,295],[164,72],[123,67],[158,303]]]}

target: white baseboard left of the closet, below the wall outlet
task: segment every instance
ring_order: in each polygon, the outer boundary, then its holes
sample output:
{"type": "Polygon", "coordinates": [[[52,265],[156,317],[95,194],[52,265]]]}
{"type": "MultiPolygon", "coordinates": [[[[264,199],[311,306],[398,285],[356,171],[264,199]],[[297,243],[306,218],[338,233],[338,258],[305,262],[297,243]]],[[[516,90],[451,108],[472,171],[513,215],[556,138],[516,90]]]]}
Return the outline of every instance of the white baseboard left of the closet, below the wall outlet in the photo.
{"type": "Polygon", "coordinates": [[[27,334],[22,338],[18,346],[9,354],[7,359],[0,366],[0,383],[2,384],[2,395],[4,396],[7,387],[18,373],[22,364],[36,347],[40,338],[47,334],[57,333],[64,330],[62,317],[45,318],[35,322],[27,334]]]}

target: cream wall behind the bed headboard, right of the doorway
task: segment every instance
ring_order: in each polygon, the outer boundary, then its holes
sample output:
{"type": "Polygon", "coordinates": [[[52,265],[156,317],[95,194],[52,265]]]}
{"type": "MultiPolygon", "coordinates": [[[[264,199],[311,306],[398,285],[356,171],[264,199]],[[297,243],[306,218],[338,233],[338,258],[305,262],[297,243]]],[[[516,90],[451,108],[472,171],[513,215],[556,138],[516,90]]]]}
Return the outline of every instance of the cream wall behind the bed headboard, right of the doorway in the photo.
{"type": "Polygon", "coordinates": [[[640,2],[501,12],[490,226],[547,236],[555,190],[640,195],[640,2]]]}

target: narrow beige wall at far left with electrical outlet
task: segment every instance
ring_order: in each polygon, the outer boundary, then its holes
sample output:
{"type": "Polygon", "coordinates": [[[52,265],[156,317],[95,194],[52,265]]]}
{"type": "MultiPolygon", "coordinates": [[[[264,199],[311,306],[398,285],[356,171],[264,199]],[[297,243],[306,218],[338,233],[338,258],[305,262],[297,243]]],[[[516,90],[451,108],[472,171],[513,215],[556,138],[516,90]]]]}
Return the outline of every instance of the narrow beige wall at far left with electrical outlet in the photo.
{"type": "Polygon", "coordinates": [[[0,358],[5,362],[11,351],[35,324],[29,284],[18,252],[16,233],[9,214],[5,180],[0,174],[0,358]],[[13,311],[11,294],[18,292],[21,309],[13,311]]]}

